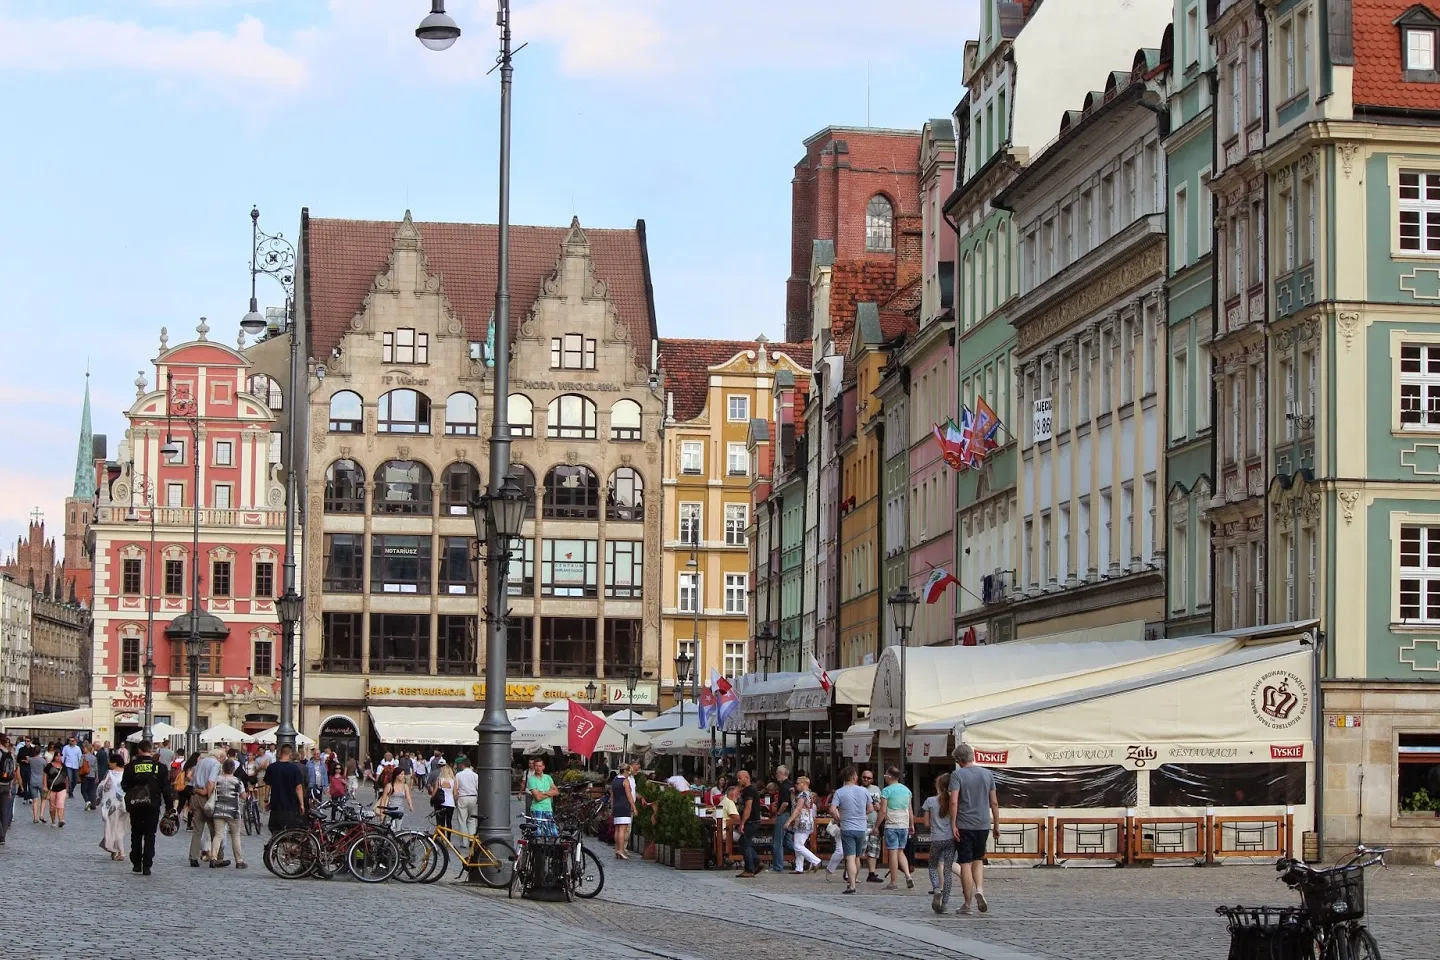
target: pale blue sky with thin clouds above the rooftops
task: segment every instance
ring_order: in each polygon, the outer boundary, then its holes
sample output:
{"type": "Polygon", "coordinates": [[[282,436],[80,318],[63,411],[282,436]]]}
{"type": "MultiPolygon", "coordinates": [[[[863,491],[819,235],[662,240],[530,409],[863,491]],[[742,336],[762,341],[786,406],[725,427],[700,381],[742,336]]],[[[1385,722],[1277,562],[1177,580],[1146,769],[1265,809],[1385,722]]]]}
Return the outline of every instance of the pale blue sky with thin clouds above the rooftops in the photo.
{"type": "MultiPolygon", "coordinates": [[[[513,0],[511,219],[644,219],[664,337],[783,335],[791,177],[827,125],[960,99],[978,0],[513,0]]],[[[124,435],[170,343],[233,344],[249,212],[494,222],[494,0],[0,0],[0,554],[63,533],[89,370],[124,435]]],[[[261,307],[282,301],[261,278],[261,307]]]]}

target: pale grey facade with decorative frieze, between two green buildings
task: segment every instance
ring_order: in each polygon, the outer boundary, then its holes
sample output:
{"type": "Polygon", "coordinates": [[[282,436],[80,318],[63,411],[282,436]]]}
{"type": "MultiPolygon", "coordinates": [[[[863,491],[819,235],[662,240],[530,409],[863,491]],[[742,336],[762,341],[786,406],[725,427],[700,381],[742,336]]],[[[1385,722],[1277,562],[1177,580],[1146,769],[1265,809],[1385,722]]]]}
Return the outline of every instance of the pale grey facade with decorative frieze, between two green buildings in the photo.
{"type": "Polygon", "coordinates": [[[1164,626],[1162,69],[1135,53],[996,199],[1020,237],[1017,636],[1164,626]]]}

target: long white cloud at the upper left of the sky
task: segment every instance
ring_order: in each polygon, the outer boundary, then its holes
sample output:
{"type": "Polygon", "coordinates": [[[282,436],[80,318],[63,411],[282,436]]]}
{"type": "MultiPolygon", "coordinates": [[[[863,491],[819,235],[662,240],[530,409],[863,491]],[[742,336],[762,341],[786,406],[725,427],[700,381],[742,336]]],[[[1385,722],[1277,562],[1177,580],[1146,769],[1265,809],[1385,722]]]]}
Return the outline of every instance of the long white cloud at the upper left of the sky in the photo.
{"type": "Polygon", "coordinates": [[[242,19],[233,33],[141,26],[99,17],[0,19],[0,69],[134,71],[212,85],[298,88],[307,65],[242,19]]]}

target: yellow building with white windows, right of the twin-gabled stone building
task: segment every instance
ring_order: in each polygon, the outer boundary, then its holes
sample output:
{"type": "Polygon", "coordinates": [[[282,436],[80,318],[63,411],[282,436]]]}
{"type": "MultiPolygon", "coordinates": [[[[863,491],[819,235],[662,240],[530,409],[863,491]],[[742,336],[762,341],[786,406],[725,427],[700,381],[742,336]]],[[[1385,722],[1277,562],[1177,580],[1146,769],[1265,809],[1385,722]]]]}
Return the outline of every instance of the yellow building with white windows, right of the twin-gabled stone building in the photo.
{"type": "Polygon", "coordinates": [[[808,345],[661,340],[665,386],[661,694],[675,702],[675,659],[704,682],[750,662],[752,419],[772,419],[775,373],[806,376],[808,345]]]}

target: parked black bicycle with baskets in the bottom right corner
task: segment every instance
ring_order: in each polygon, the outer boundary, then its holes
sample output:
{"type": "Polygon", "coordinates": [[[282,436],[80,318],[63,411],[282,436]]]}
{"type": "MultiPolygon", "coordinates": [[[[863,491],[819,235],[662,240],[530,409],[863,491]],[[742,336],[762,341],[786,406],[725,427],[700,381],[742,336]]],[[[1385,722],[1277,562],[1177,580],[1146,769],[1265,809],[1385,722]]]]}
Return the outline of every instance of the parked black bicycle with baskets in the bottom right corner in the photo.
{"type": "Polygon", "coordinates": [[[1388,849],[1355,848],[1339,864],[1313,868],[1282,858],[1279,879],[1300,907],[1217,907],[1230,925],[1230,960],[1381,960],[1365,915],[1365,871],[1384,866],[1388,849]]]}

